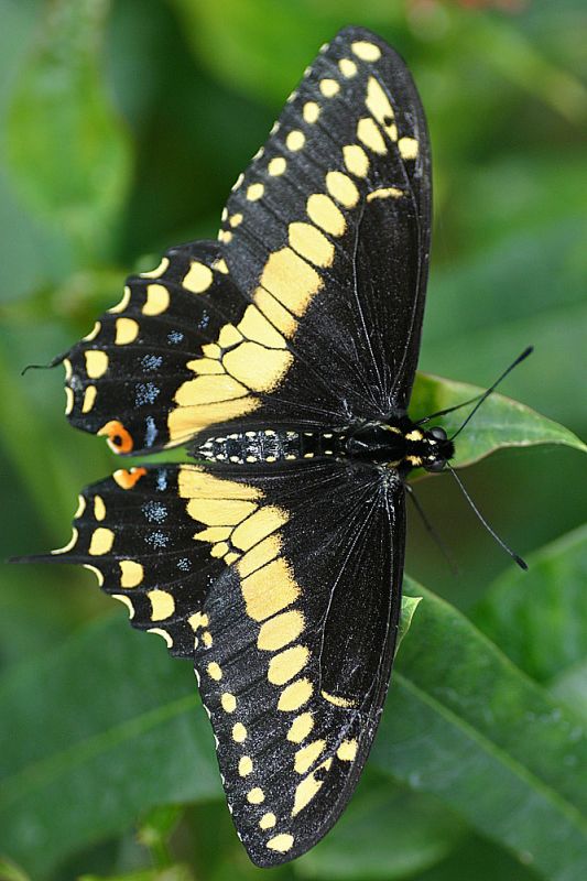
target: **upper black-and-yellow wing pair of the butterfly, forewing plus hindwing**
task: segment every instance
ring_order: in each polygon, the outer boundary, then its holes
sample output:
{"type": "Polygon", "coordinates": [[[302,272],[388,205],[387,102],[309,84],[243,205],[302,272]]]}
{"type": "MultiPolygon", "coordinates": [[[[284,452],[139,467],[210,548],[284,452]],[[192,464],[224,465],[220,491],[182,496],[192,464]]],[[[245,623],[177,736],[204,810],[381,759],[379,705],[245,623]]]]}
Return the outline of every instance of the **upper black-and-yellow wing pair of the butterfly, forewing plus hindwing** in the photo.
{"type": "Polygon", "coordinates": [[[430,247],[430,150],[399,56],[341,31],[237,182],[219,242],[167,252],[65,357],[67,413],[118,453],[238,423],[406,407],[430,247]]]}

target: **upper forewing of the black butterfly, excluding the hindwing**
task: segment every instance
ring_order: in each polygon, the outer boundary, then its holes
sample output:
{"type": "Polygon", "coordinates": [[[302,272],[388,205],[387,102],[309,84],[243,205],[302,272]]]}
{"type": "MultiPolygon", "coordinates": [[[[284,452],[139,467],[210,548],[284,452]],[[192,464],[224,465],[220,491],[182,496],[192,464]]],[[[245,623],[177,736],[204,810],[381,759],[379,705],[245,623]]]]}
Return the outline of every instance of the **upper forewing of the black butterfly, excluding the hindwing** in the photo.
{"type": "MultiPolygon", "coordinates": [[[[231,275],[354,416],[406,406],[431,228],[424,112],[399,55],[347,28],[307,68],[233,187],[231,275]]],[[[318,387],[319,388],[319,387],[318,387]]]]}

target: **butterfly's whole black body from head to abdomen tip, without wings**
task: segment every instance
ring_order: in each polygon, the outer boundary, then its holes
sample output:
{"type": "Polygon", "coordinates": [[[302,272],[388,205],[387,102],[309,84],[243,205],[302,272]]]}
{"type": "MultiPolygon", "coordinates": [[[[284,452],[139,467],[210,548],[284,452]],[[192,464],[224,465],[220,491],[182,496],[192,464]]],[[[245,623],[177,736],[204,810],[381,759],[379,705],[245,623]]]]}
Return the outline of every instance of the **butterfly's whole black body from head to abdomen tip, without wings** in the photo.
{"type": "Polygon", "coordinates": [[[196,458],[253,465],[295,459],[355,459],[409,471],[441,470],[454,446],[443,428],[424,431],[409,418],[331,429],[258,428],[208,437],[193,449],[196,458]]]}

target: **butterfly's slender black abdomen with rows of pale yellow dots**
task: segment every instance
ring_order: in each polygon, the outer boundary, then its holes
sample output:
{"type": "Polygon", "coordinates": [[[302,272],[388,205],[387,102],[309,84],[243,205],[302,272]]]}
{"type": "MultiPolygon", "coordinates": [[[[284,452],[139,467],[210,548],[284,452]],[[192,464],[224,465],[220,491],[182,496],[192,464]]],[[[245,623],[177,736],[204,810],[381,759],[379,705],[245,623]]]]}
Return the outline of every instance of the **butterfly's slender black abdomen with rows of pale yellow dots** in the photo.
{"type": "Polygon", "coordinates": [[[209,461],[253,465],[295,459],[346,457],[346,431],[305,431],[302,428],[259,428],[208,437],[192,450],[196,458],[209,461]]]}

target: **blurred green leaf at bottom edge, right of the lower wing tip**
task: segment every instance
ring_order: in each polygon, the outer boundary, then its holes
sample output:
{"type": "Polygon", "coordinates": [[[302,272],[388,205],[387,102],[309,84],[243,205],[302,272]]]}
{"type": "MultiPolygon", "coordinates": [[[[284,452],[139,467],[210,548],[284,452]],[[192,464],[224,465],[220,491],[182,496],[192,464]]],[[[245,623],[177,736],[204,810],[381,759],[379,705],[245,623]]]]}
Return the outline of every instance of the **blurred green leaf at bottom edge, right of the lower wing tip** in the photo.
{"type": "Polygon", "coordinates": [[[389,781],[362,781],[333,831],[296,862],[296,871],[348,881],[405,878],[446,857],[463,831],[435,800],[389,781]]]}

